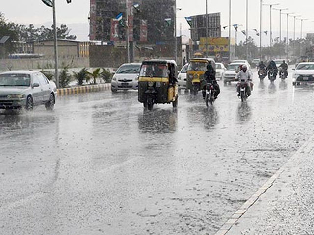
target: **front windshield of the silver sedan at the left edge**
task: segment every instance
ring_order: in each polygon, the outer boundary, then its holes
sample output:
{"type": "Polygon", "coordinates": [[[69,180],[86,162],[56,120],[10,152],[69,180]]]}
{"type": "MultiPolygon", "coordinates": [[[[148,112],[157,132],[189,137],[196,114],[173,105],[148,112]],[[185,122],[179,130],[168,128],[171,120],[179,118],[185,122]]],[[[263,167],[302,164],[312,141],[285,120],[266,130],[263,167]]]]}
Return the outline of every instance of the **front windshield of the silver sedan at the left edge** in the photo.
{"type": "Polygon", "coordinates": [[[0,86],[29,87],[30,75],[20,73],[0,74],[0,86]]]}

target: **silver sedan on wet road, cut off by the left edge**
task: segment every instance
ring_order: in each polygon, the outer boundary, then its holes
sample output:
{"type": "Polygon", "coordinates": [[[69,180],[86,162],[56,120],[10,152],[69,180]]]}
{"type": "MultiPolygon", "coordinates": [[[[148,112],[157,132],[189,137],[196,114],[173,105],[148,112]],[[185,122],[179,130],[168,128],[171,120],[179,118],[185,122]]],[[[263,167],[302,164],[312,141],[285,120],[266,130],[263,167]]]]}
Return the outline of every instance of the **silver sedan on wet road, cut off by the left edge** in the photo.
{"type": "Polygon", "coordinates": [[[0,73],[0,109],[32,110],[45,105],[53,110],[57,88],[38,71],[9,71],[0,73]]]}

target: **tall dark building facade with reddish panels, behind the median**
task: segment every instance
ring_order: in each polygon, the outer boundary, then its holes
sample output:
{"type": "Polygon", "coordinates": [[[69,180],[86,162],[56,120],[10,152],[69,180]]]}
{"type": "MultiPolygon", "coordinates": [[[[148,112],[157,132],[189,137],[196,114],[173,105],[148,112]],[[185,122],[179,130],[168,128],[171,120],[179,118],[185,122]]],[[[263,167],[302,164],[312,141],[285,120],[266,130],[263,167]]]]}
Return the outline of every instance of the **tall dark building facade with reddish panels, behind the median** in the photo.
{"type": "Polygon", "coordinates": [[[125,41],[127,7],[130,42],[174,41],[175,1],[171,0],[90,0],[90,40],[125,41]],[[121,22],[116,20],[119,13],[121,22]]]}

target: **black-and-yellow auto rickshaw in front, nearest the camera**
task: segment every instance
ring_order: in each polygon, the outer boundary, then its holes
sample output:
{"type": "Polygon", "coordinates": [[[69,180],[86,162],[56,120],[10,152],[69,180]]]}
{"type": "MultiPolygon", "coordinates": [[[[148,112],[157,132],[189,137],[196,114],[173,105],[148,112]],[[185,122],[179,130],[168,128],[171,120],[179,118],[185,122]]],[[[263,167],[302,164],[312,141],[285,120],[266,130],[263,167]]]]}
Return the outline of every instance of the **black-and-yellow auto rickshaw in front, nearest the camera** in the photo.
{"type": "Polygon", "coordinates": [[[174,60],[146,60],[142,62],[138,78],[138,101],[144,108],[154,104],[178,105],[177,64],[174,60]]]}

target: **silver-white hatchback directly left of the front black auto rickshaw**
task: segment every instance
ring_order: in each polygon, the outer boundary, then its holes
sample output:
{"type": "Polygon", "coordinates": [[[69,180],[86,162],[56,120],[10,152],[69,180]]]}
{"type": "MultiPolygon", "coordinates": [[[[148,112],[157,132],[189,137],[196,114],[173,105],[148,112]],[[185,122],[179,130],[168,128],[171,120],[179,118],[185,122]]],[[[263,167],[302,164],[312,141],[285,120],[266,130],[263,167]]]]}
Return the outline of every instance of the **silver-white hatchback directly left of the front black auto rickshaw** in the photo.
{"type": "Polygon", "coordinates": [[[111,91],[118,90],[137,90],[138,76],[141,69],[141,63],[123,64],[119,67],[111,80],[111,91]]]}

